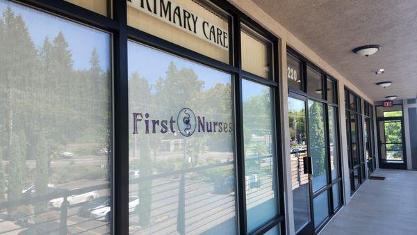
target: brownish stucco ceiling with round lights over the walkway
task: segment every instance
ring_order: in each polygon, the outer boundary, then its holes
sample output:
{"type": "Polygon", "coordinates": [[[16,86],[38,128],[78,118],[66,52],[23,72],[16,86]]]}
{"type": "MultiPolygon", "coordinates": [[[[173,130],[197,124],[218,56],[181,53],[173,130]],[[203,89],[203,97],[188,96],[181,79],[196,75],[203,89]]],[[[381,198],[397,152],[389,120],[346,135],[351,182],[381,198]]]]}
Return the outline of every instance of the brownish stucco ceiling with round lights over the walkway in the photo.
{"type": "Polygon", "coordinates": [[[374,101],[417,96],[416,0],[252,1],[374,101]],[[382,49],[369,58],[352,53],[366,44],[382,49]],[[378,68],[384,74],[373,74],[378,68]]]}

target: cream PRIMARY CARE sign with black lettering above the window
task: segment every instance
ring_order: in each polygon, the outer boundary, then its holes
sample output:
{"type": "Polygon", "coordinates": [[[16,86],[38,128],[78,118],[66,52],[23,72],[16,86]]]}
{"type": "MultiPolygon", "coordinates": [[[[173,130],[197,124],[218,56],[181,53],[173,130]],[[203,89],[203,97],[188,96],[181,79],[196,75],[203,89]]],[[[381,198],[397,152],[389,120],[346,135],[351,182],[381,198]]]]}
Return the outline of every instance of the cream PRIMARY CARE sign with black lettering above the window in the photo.
{"type": "Polygon", "coordinates": [[[229,33],[170,0],[127,0],[129,6],[227,50],[229,33]]]}

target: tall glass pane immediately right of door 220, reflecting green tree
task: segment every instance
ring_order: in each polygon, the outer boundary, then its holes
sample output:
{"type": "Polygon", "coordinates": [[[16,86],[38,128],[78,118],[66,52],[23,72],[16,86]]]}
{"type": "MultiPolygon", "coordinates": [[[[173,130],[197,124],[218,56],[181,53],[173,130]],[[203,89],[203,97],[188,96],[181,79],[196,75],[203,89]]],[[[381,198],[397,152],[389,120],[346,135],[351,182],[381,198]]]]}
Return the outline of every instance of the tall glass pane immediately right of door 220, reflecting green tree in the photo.
{"type": "Polygon", "coordinates": [[[313,161],[313,192],[327,184],[325,112],[320,102],[309,99],[309,143],[313,161]]]}

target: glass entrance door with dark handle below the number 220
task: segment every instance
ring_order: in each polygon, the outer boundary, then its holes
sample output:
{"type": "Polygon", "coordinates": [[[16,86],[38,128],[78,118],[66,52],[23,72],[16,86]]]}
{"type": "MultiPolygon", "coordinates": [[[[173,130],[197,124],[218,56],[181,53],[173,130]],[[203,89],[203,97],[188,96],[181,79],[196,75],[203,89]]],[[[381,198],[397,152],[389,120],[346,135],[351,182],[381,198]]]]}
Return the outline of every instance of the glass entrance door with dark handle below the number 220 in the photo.
{"type": "Polygon", "coordinates": [[[311,159],[307,148],[306,98],[288,97],[290,126],[291,175],[293,186],[294,225],[297,234],[312,234],[311,222],[311,159]]]}

